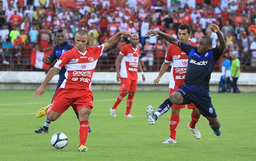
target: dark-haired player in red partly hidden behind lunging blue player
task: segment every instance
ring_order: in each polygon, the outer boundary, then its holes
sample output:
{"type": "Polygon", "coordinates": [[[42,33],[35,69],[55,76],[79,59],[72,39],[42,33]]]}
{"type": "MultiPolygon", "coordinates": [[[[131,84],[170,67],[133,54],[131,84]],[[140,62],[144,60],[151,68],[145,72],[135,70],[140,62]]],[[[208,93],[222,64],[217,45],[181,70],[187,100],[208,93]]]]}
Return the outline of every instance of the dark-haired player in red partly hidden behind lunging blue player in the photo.
{"type": "MultiPolygon", "coordinates": [[[[178,28],[178,37],[180,41],[183,41],[186,44],[197,46],[196,43],[193,43],[189,40],[189,37],[191,35],[191,28],[187,24],[181,24],[178,28]]],[[[187,55],[185,52],[183,52],[180,47],[171,44],[168,47],[167,54],[164,60],[164,63],[161,66],[161,69],[159,71],[159,75],[154,80],[154,84],[158,85],[160,78],[164,75],[164,73],[167,71],[169,64],[173,61],[172,67],[171,67],[171,75],[170,75],[170,83],[169,88],[171,89],[169,92],[169,95],[171,95],[173,92],[178,90],[180,85],[184,85],[185,80],[185,74],[187,71],[187,55]]],[[[171,107],[171,119],[170,119],[170,137],[165,142],[162,142],[164,144],[170,144],[170,143],[177,143],[176,142],[176,131],[178,128],[178,125],[180,123],[180,109],[185,108],[186,105],[177,105],[174,104],[171,107]]],[[[191,121],[187,125],[188,128],[192,131],[195,138],[200,139],[201,134],[196,128],[196,123],[200,118],[200,113],[197,107],[192,103],[187,105],[188,109],[193,109],[191,113],[191,121]]]]}

